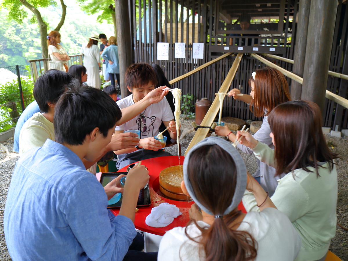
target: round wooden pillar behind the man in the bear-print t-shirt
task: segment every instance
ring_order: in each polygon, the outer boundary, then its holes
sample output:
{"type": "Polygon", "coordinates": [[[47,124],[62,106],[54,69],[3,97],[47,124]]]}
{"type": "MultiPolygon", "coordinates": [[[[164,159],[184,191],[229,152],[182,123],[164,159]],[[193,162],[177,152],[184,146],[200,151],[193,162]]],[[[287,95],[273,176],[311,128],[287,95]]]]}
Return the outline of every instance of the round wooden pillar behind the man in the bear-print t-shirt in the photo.
{"type": "Polygon", "coordinates": [[[117,27],[118,59],[120,64],[120,88],[122,98],[130,92],[125,84],[127,67],[132,64],[132,39],[129,25],[128,0],[115,0],[115,14],[117,27]]]}

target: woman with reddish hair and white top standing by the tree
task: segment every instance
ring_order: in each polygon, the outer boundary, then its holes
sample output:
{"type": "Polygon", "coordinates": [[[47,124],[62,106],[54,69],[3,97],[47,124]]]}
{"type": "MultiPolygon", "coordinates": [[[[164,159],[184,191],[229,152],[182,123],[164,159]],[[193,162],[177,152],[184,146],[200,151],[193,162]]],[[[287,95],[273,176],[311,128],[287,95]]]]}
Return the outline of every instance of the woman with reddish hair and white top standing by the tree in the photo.
{"type": "Polygon", "coordinates": [[[70,57],[60,43],[61,34],[59,32],[51,31],[47,35],[48,53],[51,57],[51,60],[48,62],[48,69],[68,72],[68,61],[70,60],[70,57]]]}

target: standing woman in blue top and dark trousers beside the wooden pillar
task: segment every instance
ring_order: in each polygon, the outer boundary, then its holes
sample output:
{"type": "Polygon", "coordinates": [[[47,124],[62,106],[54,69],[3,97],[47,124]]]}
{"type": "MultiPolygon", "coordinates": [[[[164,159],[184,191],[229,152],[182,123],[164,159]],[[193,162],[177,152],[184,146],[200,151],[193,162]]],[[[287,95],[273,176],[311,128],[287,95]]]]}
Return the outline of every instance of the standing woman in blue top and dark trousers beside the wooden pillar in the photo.
{"type": "Polygon", "coordinates": [[[111,36],[109,38],[110,46],[106,47],[102,53],[102,58],[106,63],[106,72],[109,73],[111,85],[115,86],[115,74],[117,83],[120,84],[120,67],[118,63],[118,48],[116,38],[111,36]]]}

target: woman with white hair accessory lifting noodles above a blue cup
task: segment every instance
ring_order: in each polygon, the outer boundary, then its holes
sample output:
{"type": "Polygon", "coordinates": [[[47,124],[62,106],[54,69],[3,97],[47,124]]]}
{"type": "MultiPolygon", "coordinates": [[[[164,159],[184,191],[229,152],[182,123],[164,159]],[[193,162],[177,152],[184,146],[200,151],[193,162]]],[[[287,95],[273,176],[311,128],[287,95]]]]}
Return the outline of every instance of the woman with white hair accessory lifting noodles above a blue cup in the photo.
{"type": "MultiPolygon", "coordinates": [[[[261,128],[254,134],[254,138],[274,149],[272,139],[269,137],[271,130],[269,128],[268,115],[278,104],[291,100],[288,84],[280,71],[266,67],[252,73],[249,85],[251,87],[250,95],[237,96],[236,94],[240,93],[238,89],[232,89],[228,95],[250,104],[250,110],[254,112],[256,117],[263,116],[261,128]]],[[[232,142],[236,140],[236,135],[230,131],[228,126],[216,126],[215,133],[227,137],[232,142]]],[[[241,144],[237,144],[237,147],[244,153],[253,153],[251,149],[241,144]]],[[[258,170],[252,176],[272,196],[278,185],[278,178],[274,177],[276,170],[259,160],[257,163],[258,170]]],[[[280,175],[280,178],[283,176],[285,176],[284,173],[280,175]]]]}

